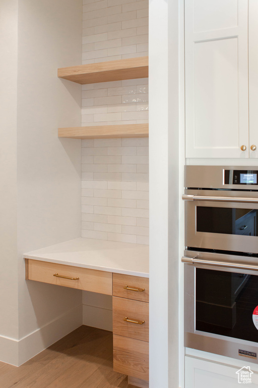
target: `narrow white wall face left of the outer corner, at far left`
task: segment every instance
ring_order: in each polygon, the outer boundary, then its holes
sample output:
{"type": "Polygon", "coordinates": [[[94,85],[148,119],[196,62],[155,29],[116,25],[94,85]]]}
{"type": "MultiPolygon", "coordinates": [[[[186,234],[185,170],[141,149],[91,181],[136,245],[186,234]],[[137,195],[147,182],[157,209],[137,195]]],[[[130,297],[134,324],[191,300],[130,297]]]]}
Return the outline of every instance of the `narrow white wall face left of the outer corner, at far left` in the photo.
{"type": "MultiPolygon", "coordinates": [[[[18,1],[3,0],[0,4],[0,360],[17,353],[17,344],[2,352],[8,338],[18,337],[17,284],[17,19],[18,1]],[[4,297],[7,296],[8,298],[4,297]],[[4,354],[5,353],[5,354],[4,354]]],[[[15,358],[15,357],[14,357],[15,358]]],[[[17,361],[17,359],[16,359],[17,361]]]]}

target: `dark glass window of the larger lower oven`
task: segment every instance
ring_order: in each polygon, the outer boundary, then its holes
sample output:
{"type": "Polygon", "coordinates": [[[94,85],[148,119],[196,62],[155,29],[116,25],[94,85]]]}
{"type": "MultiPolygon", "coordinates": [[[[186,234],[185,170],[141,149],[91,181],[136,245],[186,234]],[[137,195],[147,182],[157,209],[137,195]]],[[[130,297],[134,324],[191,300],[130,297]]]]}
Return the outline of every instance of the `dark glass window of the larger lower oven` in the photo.
{"type": "Polygon", "coordinates": [[[196,330],[258,343],[258,276],[196,268],[196,330]]]}

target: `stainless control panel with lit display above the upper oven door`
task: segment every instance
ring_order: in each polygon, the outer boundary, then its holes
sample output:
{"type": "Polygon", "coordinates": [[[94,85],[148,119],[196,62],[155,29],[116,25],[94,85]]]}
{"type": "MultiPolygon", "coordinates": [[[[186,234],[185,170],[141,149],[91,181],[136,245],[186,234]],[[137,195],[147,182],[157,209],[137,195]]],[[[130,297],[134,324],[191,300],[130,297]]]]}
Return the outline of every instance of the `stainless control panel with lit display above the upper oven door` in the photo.
{"type": "Polygon", "coordinates": [[[184,166],[184,187],[258,191],[256,166],[184,166]]]}

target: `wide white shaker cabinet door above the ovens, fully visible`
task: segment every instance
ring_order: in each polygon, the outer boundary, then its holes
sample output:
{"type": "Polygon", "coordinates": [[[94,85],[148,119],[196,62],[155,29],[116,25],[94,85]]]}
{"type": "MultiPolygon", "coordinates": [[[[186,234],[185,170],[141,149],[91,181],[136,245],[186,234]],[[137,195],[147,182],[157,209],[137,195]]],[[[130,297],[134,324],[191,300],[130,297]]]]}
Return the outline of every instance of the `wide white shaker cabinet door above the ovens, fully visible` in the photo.
{"type": "Polygon", "coordinates": [[[248,158],[248,0],[185,0],[185,132],[186,158],[248,158]]]}

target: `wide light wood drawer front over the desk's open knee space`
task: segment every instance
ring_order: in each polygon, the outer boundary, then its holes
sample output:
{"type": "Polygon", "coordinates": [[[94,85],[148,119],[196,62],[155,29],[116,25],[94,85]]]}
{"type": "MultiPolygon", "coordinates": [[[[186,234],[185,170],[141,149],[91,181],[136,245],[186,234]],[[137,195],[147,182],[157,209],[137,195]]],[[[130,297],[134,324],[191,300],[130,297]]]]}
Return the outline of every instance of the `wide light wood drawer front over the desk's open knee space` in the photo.
{"type": "Polygon", "coordinates": [[[112,273],[28,259],[28,279],[112,295],[112,273]],[[79,280],[53,276],[55,273],[79,280]]]}

